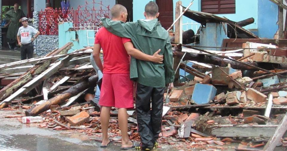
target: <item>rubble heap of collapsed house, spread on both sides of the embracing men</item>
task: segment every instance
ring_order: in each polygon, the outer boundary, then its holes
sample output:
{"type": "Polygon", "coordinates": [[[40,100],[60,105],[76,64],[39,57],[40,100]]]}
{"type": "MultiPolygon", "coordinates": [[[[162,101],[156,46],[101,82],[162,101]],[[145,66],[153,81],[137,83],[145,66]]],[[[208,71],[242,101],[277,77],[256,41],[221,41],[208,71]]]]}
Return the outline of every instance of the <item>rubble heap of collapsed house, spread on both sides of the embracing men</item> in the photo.
{"type": "MultiPolygon", "coordinates": [[[[178,63],[174,70],[184,70],[194,79],[184,76],[185,82],[176,81],[175,88],[164,94],[158,142],[183,141],[186,148],[213,149],[237,142],[235,150],[264,146],[263,150],[272,150],[278,143],[286,147],[286,40],[260,39],[242,28],[243,23],[183,9],[176,17],[185,15],[202,28],[191,36],[180,33],[180,22],[175,24],[173,56],[178,63]],[[212,32],[214,27],[220,33],[212,32]],[[214,37],[220,37],[220,46],[214,37]]],[[[39,127],[101,136],[99,108],[90,104],[98,81],[88,59],[92,47],[67,53],[72,45],[43,57],[0,65],[1,85],[6,85],[0,90],[0,109],[26,109],[25,114],[7,118],[21,121],[25,115],[40,115],[45,120],[39,127]]],[[[128,114],[130,139],[139,141],[135,111],[128,114]]],[[[111,116],[109,132],[119,141],[117,109],[111,116]]]]}

